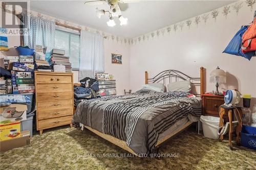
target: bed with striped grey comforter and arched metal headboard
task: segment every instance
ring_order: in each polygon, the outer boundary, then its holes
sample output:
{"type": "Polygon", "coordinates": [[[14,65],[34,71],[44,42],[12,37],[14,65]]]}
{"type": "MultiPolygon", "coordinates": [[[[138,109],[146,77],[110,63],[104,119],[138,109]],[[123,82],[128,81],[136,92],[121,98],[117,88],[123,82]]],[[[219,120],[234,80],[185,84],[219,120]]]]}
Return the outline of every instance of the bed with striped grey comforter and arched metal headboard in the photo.
{"type": "Polygon", "coordinates": [[[144,156],[157,153],[159,146],[197,122],[201,115],[204,68],[193,78],[178,70],[165,70],[153,78],[145,71],[145,84],[188,80],[197,98],[183,91],[157,92],[140,89],[135,93],[81,102],[73,122],[79,123],[122,149],[144,156]],[[200,88],[199,94],[196,92],[200,88]]]}

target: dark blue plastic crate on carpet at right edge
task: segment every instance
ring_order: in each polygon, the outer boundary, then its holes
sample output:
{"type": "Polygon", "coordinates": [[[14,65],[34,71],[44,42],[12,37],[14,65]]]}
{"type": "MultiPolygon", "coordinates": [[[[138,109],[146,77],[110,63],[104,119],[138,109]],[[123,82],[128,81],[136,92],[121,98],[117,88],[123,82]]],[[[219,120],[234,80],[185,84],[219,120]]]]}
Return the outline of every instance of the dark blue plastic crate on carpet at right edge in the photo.
{"type": "Polygon", "coordinates": [[[256,128],[251,126],[242,127],[241,145],[256,150],[256,128]]]}

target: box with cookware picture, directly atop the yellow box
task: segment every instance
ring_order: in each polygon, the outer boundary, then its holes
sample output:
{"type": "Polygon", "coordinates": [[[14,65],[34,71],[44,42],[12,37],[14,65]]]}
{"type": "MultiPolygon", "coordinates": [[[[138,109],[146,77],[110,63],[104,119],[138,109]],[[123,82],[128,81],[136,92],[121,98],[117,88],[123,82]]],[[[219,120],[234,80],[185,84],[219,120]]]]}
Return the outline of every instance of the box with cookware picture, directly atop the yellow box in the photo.
{"type": "Polygon", "coordinates": [[[27,110],[26,104],[11,104],[10,106],[0,107],[0,124],[27,120],[27,110]]]}

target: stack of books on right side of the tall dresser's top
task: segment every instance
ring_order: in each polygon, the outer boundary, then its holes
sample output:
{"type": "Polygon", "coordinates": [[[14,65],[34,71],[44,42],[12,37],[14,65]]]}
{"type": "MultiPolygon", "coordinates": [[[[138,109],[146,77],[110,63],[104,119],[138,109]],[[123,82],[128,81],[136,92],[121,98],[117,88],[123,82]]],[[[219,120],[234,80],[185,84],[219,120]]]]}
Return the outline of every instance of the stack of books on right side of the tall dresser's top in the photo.
{"type": "Polygon", "coordinates": [[[69,61],[69,57],[65,56],[65,50],[53,48],[53,50],[51,51],[51,60],[49,62],[50,64],[65,65],[66,72],[72,71],[72,66],[69,61]]]}

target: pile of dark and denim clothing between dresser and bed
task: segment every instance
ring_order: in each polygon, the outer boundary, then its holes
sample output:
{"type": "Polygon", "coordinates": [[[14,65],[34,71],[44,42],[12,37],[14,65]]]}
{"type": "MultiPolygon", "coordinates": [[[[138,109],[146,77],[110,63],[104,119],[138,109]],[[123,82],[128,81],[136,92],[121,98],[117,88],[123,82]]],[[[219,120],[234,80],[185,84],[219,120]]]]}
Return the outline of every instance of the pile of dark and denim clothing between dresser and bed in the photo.
{"type": "Polygon", "coordinates": [[[79,81],[80,86],[74,85],[74,102],[77,106],[83,100],[100,98],[99,83],[96,79],[86,77],[79,81]]]}

